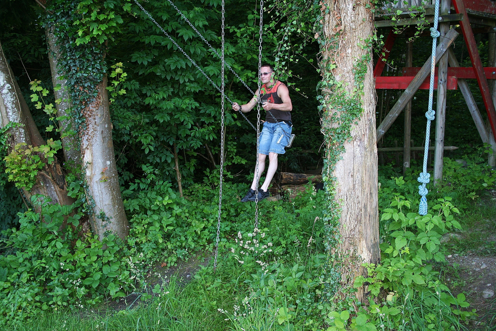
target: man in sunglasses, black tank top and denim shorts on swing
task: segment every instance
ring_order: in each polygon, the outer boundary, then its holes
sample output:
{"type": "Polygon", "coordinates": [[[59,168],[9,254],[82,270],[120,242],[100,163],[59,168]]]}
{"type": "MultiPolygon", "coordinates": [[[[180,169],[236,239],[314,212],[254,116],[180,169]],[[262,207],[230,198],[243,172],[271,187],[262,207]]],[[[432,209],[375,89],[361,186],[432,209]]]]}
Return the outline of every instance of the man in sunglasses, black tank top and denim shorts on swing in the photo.
{"type": "Polygon", "coordinates": [[[291,110],[293,105],[289,97],[289,90],[286,85],[279,80],[274,80],[272,74],[274,68],[271,65],[263,64],[260,67],[260,78],[262,87],[256,90],[255,96],[244,105],[233,103],[233,110],[248,113],[257,105],[257,97],[260,95],[260,101],[263,104],[263,109],[266,112],[263,129],[260,133],[258,145],[258,169],[255,166],[253,182],[248,190],[247,195],[241,199],[242,202],[255,201],[256,187],[260,176],[265,170],[265,158],[269,156],[269,167],[267,175],[262,186],[258,188],[258,200],[265,199],[269,196],[270,181],[274,177],[277,170],[277,156],[284,154],[284,147],[289,142],[291,137],[291,110]]]}

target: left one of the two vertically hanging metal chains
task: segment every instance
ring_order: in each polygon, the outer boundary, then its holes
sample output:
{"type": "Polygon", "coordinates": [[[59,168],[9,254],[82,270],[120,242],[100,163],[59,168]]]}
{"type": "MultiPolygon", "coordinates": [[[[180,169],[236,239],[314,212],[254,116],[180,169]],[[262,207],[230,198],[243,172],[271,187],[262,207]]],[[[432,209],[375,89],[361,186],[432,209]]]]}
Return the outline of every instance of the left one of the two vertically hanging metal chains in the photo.
{"type": "Polygon", "coordinates": [[[222,215],[222,175],[224,171],[224,0],[222,0],[222,39],[221,39],[221,117],[220,117],[220,175],[219,175],[219,215],[217,217],[217,239],[215,240],[214,271],[219,255],[220,219],[222,215]]]}

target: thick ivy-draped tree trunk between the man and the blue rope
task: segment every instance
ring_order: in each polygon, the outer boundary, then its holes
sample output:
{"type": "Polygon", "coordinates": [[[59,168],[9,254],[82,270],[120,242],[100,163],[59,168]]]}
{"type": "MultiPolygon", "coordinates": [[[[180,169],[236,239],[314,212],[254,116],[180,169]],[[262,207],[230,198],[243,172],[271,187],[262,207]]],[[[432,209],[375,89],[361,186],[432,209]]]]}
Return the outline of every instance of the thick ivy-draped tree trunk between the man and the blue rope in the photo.
{"type": "MultiPolygon", "coordinates": [[[[339,261],[341,290],[380,261],[377,205],[374,34],[371,1],[320,2],[327,251],[339,261]]],[[[336,266],[334,266],[334,269],[336,266]]],[[[340,291],[339,288],[335,290],[340,291]]],[[[363,301],[367,288],[355,293],[363,301]]]]}

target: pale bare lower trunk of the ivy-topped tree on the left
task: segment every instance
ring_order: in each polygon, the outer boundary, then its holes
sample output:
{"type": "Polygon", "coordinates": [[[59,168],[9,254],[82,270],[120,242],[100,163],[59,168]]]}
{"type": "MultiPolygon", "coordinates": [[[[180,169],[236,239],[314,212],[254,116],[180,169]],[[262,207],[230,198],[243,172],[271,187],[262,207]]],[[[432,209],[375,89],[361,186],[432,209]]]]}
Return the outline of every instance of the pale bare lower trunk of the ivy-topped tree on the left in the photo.
{"type": "Polygon", "coordinates": [[[98,96],[83,110],[86,128],[81,132],[83,172],[88,203],[93,205],[91,223],[99,240],[112,233],[121,239],[129,234],[129,223],[117,174],[107,77],[97,86],[98,96]]]}

